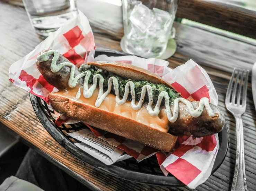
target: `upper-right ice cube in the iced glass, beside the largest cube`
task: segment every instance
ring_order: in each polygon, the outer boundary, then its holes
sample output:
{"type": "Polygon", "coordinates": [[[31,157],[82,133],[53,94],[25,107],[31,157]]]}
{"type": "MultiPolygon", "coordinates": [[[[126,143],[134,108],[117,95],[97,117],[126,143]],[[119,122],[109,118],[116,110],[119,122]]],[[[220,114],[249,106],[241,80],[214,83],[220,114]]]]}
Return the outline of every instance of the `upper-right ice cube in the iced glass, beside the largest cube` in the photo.
{"type": "Polygon", "coordinates": [[[153,13],[156,18],[156,27],[157,29],[169,28],[172,22],[172,15],[167,11],[161,9],[153,8],[153,13]]]}

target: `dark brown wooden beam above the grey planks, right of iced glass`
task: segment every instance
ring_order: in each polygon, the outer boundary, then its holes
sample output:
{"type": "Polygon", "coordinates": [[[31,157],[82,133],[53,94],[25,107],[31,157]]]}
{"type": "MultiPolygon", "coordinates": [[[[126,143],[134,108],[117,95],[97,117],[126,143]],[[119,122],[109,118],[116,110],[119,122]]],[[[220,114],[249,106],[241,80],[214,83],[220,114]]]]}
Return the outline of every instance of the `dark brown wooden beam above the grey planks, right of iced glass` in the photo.
{"type": "Polygon", "coordinates": [[[225,1],[180,0],[176,16],[256,38],[256,12],[225,1]]]}

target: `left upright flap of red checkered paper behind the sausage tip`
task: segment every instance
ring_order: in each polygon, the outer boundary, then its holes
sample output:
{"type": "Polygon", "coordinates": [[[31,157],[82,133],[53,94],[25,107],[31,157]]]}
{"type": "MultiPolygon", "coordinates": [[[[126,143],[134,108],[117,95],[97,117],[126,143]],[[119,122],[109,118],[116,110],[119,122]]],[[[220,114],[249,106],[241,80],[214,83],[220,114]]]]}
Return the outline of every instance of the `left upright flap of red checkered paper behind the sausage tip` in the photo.
{"type": "Polygon", "coordinates": [[[86,16],[79,11],[77,18],[65,23],[9,68],[12,83],[49,103],[49,93],[58,89],[50,85],[36,68],[36,57],[43,49],[59,50],[77,66],[93,61],[95,42],[86,16]]]}

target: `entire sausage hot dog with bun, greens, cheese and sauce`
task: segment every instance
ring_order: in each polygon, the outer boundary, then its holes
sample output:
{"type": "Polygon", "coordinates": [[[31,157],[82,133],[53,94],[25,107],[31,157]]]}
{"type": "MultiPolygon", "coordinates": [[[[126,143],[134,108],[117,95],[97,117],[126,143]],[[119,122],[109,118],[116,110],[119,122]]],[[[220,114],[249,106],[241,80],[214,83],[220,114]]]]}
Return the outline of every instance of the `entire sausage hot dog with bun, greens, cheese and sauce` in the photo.
{"type": "Polygon", "coordinates": [[[208,98],[190,102],[156,74],[119,62],[91,62],[79,69],[57,50],[44,50],[36,66],[60,91],[53,107],[86,122],[162,151],[176,136],[208,136],[224,126],[224,114],[208,98]]]}

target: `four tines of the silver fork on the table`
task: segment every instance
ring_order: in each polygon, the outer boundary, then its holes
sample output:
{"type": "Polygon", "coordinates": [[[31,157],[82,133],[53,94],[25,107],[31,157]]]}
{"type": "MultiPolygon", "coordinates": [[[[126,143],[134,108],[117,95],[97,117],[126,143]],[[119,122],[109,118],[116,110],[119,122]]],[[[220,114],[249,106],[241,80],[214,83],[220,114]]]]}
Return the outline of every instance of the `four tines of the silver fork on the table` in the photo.
{"type": "Polygon", "coordinates": [[[226,104],[246,106],[246,92],[249,70],[235,68],[228,85],[226,104]],[[242,95],[241,95],[242,94],[242,95]]]}

